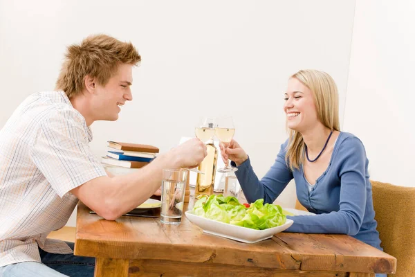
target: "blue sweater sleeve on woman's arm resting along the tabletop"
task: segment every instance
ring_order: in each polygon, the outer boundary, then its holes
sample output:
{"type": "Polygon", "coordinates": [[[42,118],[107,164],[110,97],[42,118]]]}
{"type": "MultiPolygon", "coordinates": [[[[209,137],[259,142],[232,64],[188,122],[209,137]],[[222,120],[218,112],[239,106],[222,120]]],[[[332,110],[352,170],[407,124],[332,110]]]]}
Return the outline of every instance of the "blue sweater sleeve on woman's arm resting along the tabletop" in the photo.
{"type": "Polygon", "coordinates": [[[366,206],[366,153],[356,137],[342,141],[333,170],[340,177],[339,211],[321,215],[287,216],[294,224],[287,229],[295,233],[342,233],[356,235],[362,225],[366,206]]]}

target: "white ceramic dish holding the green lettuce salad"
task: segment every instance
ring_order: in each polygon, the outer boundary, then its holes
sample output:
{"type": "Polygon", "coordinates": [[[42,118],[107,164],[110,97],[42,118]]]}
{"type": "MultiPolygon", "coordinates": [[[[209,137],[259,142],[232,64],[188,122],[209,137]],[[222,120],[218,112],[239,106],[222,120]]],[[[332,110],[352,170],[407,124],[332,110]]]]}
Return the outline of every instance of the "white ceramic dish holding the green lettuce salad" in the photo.
{"type": "Polygon", "coordinates": [[[228,223],[219,222],[216,220],[210,220],[199,215],[194,215],[191,211],[185,212],[187,219],[190,220],[196,226],[199,226],[203,232],[210,233],[212,235],[219,235],[223,238],[230,238],[231,240],[237,240],[239,242],[255,243],[261,240],[272,238],[276,233],[282,232],[288,229],[293,224],[293,220],[286,220],[285,224],[281,226],[265,229],[255,230],[228,223]]]}

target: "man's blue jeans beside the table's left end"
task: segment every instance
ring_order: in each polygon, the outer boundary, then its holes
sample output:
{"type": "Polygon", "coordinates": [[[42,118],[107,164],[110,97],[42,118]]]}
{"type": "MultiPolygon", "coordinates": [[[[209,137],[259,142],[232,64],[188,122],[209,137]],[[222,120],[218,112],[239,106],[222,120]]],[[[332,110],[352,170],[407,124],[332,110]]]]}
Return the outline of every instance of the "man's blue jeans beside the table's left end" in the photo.
{"type": "MultiPolygon", "coordinates": [[[[66,242],[73,250],[73,242],[66,242]]],[[[40,262],[19,262],[0,267],[3,277],[93,277],[95,258],[54,254],[39,248],[40,262]]]]}

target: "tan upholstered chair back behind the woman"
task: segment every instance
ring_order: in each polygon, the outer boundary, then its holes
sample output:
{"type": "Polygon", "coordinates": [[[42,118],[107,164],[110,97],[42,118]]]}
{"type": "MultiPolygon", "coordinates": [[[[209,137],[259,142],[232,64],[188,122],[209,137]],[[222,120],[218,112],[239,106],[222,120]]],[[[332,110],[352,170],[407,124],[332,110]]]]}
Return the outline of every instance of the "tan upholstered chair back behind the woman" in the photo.
{"type": "Polygon", "coordinates": [[[394,277],[415,276],[415,188],[371,181],[383,251],[397,260],[394,277]]]}

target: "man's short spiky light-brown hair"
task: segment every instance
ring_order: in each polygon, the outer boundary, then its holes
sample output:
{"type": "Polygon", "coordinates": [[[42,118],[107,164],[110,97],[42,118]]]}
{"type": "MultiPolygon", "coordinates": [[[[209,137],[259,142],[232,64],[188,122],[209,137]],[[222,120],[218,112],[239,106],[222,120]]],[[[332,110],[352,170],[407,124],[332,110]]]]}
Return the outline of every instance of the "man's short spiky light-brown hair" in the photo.
{"type": "Polygon", "coordinates": [[[65,91],[68,98],[81,93],[84,78],[90,75],[104,86],[118,70],[119,64],[136,65],[141,61],[131,42],[120,42],[109,35],[92,35],[81,44],[68,46],[56,89],[65,91]]]}

